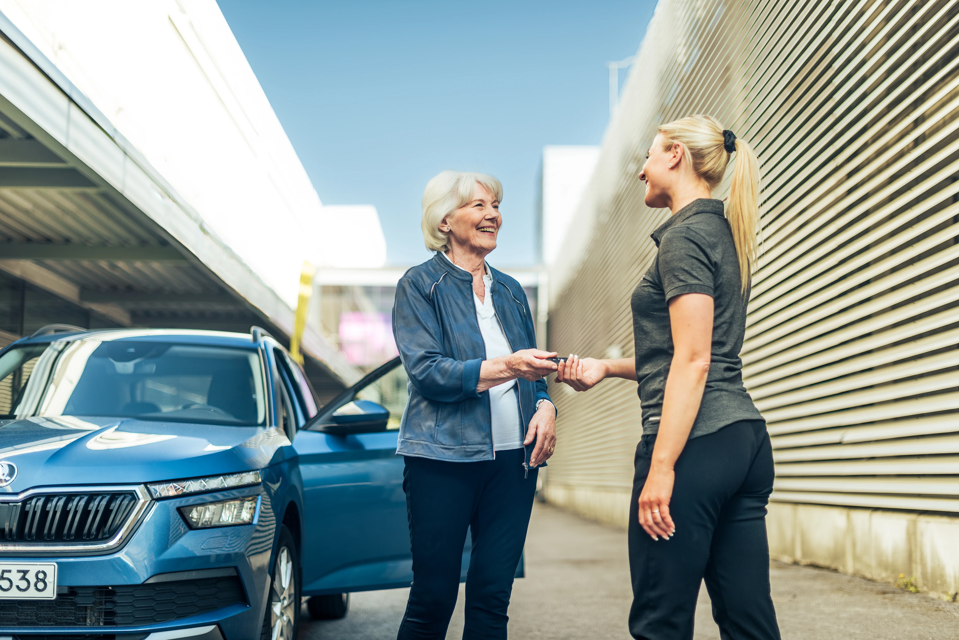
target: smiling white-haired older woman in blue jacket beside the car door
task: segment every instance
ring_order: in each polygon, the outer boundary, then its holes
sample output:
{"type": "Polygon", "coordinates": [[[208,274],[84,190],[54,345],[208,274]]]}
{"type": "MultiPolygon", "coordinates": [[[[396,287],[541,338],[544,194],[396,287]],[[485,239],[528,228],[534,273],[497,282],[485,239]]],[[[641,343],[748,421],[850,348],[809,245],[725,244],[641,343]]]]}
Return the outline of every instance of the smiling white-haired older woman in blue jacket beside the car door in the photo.
{"type": "Polygon", "coordinates": [[[488,264],[503,219],[490,176],[444,171],[423,193],[431,260],[396,287],[393,333],[409,375],[397,453],[405,457],[413,583],[399,638],[446,638],[466,531],[464,638],[505,638],[537,467],[555,445],[555,408],[520,284],[488,264]]]}

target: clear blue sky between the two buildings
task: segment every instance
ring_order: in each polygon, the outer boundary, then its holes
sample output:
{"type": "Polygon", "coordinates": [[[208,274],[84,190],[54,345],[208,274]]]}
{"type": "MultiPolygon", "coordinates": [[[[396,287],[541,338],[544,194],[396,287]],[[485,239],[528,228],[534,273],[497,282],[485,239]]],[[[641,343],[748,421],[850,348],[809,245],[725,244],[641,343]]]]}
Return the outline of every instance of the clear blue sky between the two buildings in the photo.
{"type": "Polygon", "coordinates": [[[390,264],[429,257],[420,232],[423,187],[456,169],[503,181],[503,230],[490,260],[525,266],[533,261],[542,149],[600,142],[609,115],[605,62],[636,53],[655,4],[221,0],[220,7],[320,200],[374,204],[390,264]]]}

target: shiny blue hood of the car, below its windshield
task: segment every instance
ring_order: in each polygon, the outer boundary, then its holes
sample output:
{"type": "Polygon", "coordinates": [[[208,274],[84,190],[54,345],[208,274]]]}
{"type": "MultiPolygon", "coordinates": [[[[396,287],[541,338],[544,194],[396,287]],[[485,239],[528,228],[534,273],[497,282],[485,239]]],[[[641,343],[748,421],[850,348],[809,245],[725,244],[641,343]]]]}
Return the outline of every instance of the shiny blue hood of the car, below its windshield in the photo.
{"type": "MultiPolygon", "coordinates": [[[[276,428],[133,418],[0,421],[0,462],[16,466],[0,494],[35,486],[139,484],[235,473],[278,462],[290,440],[276,428]]],[[[2,479],[0,479],[2,480],[2,479]]]]}

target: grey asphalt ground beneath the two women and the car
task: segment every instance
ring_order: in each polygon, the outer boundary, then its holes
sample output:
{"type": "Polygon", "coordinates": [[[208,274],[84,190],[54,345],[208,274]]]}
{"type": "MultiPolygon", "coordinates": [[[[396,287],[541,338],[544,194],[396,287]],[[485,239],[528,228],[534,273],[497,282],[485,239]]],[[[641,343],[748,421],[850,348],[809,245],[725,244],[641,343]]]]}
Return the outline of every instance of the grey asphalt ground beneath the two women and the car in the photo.
{"type": "MultiPolygon", "coordinates": [[[[783,640],[956,640],[959,604],[816,567],[773,562],[783,640]]],[[[394,640],[409,589],[356,593],[342,620],[310,620],[298,640],[394,640]]],[[[509,609],[513,640],[629,640],[626,534],[537,503],[526,539],[526,578],[509,609]]],[[[462,637],[462,585],[448,640],[462,637]]],[[[719,640],[700,590],[695,640],[719,640]]]]}

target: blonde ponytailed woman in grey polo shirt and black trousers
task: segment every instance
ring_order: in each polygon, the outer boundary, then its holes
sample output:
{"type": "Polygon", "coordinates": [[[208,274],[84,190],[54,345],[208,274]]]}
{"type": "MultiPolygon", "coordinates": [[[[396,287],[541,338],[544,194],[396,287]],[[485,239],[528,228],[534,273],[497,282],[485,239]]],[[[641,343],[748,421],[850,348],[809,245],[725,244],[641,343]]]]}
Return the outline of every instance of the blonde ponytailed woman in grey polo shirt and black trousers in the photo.
{"type": "Polygon", "coordinates": [[[773,459],[742,385],[750,268],[759,225],[759,163],[710,116],[663,125],[639,176],[645,204],[672,215],[632,297],[636,358],[571,355],[557,380],[587,391],[636,380],[643,438],[629,522],[634,638],[692,638],[700,582],[724,638],[778,640],[769,594],[766,504],[773,459]],[[729,201],[713,199],[735,154],[729,201]]]}

